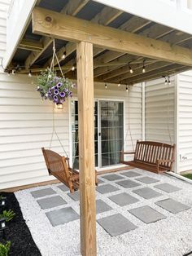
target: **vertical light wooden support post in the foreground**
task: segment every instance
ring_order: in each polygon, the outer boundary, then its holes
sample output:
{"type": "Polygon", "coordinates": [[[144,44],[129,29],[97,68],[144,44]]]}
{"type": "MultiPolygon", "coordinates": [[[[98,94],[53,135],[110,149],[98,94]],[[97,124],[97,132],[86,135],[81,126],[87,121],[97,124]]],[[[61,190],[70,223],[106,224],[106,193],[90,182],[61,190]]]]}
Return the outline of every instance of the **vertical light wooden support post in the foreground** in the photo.
{"type": "Polygon", "coordinates": [[[93,45],[79,42],[76,48],[79,116],[81,254],[96,255],[94,171],[94,71],[93,45]]]}

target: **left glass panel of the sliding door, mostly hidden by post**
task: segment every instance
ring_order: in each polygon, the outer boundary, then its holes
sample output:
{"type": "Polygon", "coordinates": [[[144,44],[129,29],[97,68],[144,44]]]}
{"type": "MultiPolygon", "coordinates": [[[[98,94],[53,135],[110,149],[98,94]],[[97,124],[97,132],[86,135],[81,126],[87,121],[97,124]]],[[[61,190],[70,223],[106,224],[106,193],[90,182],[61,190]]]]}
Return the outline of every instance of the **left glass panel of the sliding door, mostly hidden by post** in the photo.
{"type": "MultiPolygon", "coordinates": [[[[72,100],[72,168],[79,169],[78,102],[72,100]]],[[[98,103],[94,104],[95,166],[98,166],[98,103]]]]}

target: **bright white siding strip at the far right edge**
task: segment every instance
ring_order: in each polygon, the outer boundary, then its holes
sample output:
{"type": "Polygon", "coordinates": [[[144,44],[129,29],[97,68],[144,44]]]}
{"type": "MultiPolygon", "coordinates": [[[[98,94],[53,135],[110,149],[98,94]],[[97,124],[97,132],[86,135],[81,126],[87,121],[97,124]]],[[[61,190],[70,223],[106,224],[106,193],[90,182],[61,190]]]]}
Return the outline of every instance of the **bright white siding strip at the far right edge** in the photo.
{"type": "Polygon", "coordinates": [[[178,75],[179,171],[192,170],[192,71],[178,75]]]}

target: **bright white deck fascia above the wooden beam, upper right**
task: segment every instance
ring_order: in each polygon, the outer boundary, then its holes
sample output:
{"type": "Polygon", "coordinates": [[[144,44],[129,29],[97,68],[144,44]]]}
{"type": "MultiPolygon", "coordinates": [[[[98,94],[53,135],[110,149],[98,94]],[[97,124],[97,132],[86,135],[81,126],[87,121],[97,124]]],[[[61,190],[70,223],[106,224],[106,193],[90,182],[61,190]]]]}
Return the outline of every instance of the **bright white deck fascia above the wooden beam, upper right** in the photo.
{"type": "MultiPolygon", "coordinates": [[[[184,11],[169,0],[94,0],[133,15],[192,34],[192,10],[184,11]],[[169,3],[170,2],[170,3],[169,3]]],[[[185,0],[180,0],[185,1],[185,0]]],[[[178,5],[179,6],[179,5],[178,5]]]]}

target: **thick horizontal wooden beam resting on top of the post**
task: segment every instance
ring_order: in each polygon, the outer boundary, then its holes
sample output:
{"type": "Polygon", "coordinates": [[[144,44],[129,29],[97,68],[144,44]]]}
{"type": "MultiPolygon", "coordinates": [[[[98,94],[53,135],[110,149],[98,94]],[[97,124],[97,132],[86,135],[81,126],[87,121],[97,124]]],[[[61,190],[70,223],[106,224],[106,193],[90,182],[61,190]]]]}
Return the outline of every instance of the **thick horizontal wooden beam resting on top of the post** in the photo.
{"type": "Polygon", "coordinates": [[[192,66],[190,49],[68,15],[60,15],[39,7],[33,11],[33,33],[49,34],[73,42],[91,42],[109,50],[192,66]],[[46,21],[47,18],[50,21],[46,21]]]}

